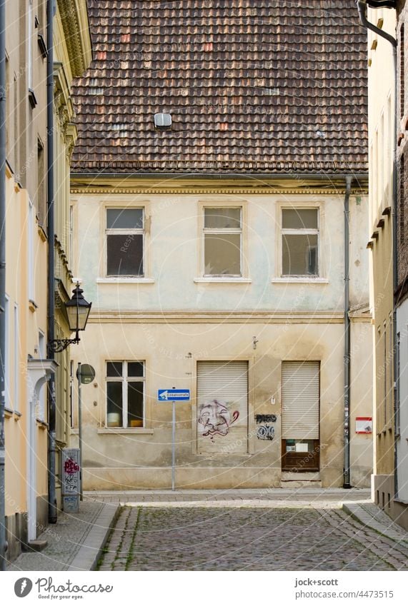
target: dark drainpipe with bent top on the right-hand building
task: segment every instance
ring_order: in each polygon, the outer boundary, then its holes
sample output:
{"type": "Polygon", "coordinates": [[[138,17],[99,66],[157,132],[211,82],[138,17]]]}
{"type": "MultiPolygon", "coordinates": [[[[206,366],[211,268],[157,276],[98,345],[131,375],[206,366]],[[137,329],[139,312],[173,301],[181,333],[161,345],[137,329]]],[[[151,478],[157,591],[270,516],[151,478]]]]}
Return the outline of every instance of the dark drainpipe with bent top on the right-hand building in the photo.
{"type": "MultiPolygon", "coordinates": [[[[369,1],[369,6],[373,9],[387,6],[387,8],[395,9],[395,2],[387,3],[369,1]]],[[[394,397],[394,419],[397,419],[397,309],[394,301],[394,293],[398,286],[398,266],[397,266],[397,40],[394,36],[390,36],[387,32],[382,31],[372,23],[367,21],[367,5],[362,0],[357,0],[357,9],[359,18],[367,29],[371,29],[375,34],[387,40],[392,45],[392,60],[394,64],[394,153],[393,153],[393,168],[392,168],[392,372],[394,375],[393,397],[394,397]]],[[[398,475],[397,475],[397,437],[394,430],[394,498],[398,498],[398,475]]]]}

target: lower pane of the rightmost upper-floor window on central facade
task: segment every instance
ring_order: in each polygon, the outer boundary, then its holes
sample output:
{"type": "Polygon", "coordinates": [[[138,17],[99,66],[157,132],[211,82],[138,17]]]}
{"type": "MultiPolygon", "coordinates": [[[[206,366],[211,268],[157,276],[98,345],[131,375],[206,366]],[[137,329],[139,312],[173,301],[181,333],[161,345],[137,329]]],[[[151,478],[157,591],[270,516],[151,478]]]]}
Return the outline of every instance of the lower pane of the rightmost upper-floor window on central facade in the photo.
{"type": "Polygon", "coordinates": [[[317,276],[318,274],[317,234],[282,236],[282,275],[317,276]]]}

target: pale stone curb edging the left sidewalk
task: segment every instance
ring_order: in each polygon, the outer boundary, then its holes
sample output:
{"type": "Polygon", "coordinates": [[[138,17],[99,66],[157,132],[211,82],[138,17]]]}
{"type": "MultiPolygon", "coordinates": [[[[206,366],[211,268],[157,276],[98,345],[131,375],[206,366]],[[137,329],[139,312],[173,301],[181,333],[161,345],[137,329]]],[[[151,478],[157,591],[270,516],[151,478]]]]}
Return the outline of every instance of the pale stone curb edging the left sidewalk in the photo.
{"type": "Polygon", "coordinates": [[[106,503],[99,516],[86,536],[84,543],[76,552],[74,559],[66,570],[95,570],[102,550],[106,545],[116,519],[119,507],[113,503],[106,503]]]}

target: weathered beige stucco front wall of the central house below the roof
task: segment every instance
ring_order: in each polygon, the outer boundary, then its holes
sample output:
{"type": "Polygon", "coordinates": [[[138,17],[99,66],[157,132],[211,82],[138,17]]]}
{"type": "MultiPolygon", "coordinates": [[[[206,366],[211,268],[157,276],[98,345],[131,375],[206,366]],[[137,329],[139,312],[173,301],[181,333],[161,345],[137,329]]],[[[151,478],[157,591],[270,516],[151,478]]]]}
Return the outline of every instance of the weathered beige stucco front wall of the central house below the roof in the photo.
{"type": "MultiPolygon", "coordinates": [[[[281,485],[282,360],[321,362],[320,473],[324,486],[343,483],[344,453],[344,193],[254,195],[74,193],[76,266],[92,313],[75,361],[96,370],[82,388],[84,488],[169,488],[171,405],[159,388],[189,388],[191,403],[177,404],[176,483],[179,488],[281,485]],[[200,281],[202,206],[242,206],[242,283],[200,281]],[[146,281],[106,281],[106,206],[143,206],[146,281]],[[279,280],[282,206],[320,208],[322,281],[279,280]],[[257,348],[253,347],[256,336],[257,348]],[[190,356],[191,354],[191,356],[190,356]],[[106,360],[145,360],[146,425],[106,429],[106,360]],[[197,360],[249,362],[247,455],[196,453],[197,360]],[[274,404],[272,404],[274,398],[274,404]],[[274,414],[272,441],[257,438],[255,414],[274,414]]],[[[352,484],[369,485],[372,435],[355,434],[355,417],[372,416],[372,353],[368,260],[364,226],[367,198],[350,201],[352,318],[352,484]],[[363,226],[363,228],[362,228],[363,226]],[[365,307],[364,307],[365,305],[365,307]]],[[[75,396],[75,406],[77,399],[75,396]]],[[[76,434],[71,444],[77,444],[76,434]]],[[[302,474],[297,474],[301,476],[302,474]]],[[[307,478],[307,476],[303,476],[307,478]]],[[[292,479],[292,478],[291,478],[292,479]]],[[[302,478],[300,478],[302,479],[302,478]]]]}

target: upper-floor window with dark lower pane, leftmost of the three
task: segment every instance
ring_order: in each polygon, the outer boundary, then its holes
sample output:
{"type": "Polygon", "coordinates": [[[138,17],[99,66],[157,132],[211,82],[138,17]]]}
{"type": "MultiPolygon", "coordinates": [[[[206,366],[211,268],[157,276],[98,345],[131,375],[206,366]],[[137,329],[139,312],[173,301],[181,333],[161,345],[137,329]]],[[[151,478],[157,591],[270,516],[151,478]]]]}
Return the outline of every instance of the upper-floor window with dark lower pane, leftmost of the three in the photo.
{"type": "Polygon", "coordinates": [[[106,209],[106,276],[144,276],[143,208],[106,209]]]}

